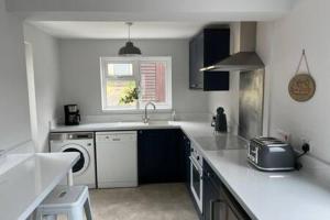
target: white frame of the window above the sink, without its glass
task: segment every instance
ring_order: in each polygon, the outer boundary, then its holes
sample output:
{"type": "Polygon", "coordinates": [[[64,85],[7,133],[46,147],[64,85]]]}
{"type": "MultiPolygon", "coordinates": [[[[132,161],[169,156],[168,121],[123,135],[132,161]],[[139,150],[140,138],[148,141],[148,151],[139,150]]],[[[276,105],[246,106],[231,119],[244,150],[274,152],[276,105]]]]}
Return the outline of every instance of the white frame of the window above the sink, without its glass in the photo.
{"type": "Polygon", "coordinates": [[[119,77],[120,79],[135,79],[138,87],[141,87],[141,62],[164,62],[166,65],[165,73],[165,97],[166,102],[155,103],[156,111],[170,112],[173,109],[172,98],[172,57],[170,56],[139,56],[139,57],[100,57],[100,78],[101,78],[101,108],[102,112],[120,112],[120,113],[140,113],[144,110],[144,102],[139,98],[139,108],[136,107],[111,107],[107,106],[107,79],[116,78],[108,76],[107,65],[109,63],[132,63],[133,64],[133,76],[132,77],[119,77]],[[142,107],[143,106],[143,107],[142,107]]]}

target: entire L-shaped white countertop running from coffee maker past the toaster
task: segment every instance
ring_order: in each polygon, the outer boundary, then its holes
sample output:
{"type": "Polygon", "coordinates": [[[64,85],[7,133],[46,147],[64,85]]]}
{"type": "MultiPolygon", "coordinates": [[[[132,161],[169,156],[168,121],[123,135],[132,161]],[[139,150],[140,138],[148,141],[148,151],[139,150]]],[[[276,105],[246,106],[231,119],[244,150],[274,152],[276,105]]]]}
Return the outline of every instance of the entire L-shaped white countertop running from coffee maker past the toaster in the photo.
{"type": "Polygon", "coordinates": [[[182,128],[252,219],[330,219],[330,167],[327,165],[299,172],[260,172],[246,162],[246,141],[232,134],[215,135],[209,123],[176,121],[145,125],[132,122],[130,125],[128,122],[82,124],[52,131],[182,128]]]}

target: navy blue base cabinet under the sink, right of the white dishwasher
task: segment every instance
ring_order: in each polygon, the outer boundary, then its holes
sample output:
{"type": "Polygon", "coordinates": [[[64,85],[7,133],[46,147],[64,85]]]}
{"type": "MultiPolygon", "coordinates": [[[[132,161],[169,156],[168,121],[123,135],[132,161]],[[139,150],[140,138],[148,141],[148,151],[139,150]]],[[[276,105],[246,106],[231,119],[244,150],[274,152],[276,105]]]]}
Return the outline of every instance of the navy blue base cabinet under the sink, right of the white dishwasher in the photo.
{"type": "Polygon", "coordinates": [[[180,133],[177,129],[139,131],[139,184],[184,182],[180,133]]]}

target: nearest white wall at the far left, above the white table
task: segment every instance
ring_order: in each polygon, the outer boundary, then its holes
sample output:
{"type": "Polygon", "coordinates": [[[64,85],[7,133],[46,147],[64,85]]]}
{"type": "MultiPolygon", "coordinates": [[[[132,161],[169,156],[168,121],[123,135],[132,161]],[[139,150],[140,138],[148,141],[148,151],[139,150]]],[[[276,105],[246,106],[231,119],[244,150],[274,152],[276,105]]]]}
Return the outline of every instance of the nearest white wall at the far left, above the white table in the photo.
{"type": "Polygon", "coordinates": [[[30,140],[23,26],[0,0],[0,148],[30,140]]]}

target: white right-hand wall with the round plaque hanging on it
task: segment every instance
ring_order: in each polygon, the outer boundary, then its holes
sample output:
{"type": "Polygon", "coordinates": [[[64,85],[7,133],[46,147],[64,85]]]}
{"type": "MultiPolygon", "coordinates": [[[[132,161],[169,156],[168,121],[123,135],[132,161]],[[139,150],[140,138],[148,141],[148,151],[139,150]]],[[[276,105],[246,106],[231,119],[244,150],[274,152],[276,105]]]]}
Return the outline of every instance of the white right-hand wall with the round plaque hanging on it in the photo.
{"type": "MultiPolygon", "coordinates": [[[[294,145],[309,139],[311,154],[330,163],[330,1],[301,0],[286,18],[260,23],[257,51],[271,75],[271,134],[289,132],[294,145]],[[315,97],[296,102],[288,95],[288,82],[306,48],[317,84],[315,97]]],[[[305,67],[304,67],[305,68],[305,67]]]]}

